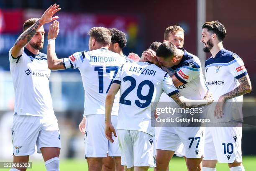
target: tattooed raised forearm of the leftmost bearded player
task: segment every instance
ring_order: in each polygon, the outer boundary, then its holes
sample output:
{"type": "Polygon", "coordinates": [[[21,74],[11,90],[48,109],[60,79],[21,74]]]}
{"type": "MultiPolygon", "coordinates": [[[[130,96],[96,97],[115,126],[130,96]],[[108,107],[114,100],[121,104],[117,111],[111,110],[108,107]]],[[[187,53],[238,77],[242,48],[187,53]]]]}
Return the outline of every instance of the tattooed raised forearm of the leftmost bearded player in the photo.
{"type": "Polygon", "coordinates": [[[26,46],[26,44],[32,39],[32,37],[36,34],[36,31],[40,28],[40,23],[37,21],[30,28],[24,31],[15,42],[15,45],[19,45],[20,48],[26,46]]]}

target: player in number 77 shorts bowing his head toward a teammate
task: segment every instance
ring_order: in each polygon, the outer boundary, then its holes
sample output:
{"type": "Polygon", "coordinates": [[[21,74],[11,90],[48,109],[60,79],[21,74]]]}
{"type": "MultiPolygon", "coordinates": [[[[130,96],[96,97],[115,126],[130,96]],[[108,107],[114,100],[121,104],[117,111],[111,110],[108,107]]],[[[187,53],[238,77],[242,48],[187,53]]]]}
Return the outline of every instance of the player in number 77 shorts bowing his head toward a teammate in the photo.
{"type": "MultiPolygon", "coordinates": [[[[165,43],[173,46],[171,42],[165,43]]],[[[156,58],[172,75],[172,81],[179,92],[186,98],[202,100],[208,89],[198,58],[176,46],[172,48],[169,58],[163,58],[164,49],[160,47],[156,50],[156,58]]],[[[188,170],[200,170],[204,151],[203,132],[203,127],[161,127],[156,145],[156,170],[166,170],[169,160],[182,143],[188,170]],[[197,141],[192,142],[192,138],[197,138],[197,141]]]]}

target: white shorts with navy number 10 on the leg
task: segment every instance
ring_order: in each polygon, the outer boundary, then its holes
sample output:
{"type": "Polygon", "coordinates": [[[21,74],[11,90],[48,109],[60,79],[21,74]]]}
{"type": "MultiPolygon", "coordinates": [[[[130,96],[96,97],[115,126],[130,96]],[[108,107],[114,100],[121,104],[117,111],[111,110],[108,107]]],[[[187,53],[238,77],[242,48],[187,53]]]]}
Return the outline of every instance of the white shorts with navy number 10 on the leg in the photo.
{"type": "Polygon", "coordinates": [[[219,163],[242,162],[242,127],[207,127],[203,160],[219,163]]]}

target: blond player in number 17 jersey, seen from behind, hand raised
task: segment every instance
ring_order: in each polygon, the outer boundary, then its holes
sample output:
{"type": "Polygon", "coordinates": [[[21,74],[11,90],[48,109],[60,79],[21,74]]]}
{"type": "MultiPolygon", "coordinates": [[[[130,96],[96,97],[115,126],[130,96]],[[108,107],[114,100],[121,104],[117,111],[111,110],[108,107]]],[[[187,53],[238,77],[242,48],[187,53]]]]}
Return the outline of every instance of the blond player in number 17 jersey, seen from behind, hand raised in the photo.
{"type": "MultiPolygon", "coordinates": [[[[105,98],[118,69],[126,62],[125,57],[109,51],[111,33],[104,27],[93,27],[88,32],[89,51],[77,52],[68,58],[58,59],[55,53],[55,38],[59,22],[54,21],[48,33],[48,67],[52,70],[79,69],[84,86],[84,118],[79,125],[85,126],[85,158],[89,171],[101,171],[102,159],[108,155],[118,160],[118,141],[110,143],[105,137],[105,98]],[[85,123],[86,117],[86,124],[85,123]]],[[[118,96],[113,107],[113,124],[117,125],[118,96]]]]}

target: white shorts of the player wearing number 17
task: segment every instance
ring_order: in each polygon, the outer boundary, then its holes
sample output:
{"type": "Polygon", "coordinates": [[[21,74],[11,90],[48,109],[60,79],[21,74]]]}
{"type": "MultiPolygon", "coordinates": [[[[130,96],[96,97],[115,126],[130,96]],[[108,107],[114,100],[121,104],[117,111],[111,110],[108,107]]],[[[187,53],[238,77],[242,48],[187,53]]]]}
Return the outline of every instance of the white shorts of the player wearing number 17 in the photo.
{"type": "MultiPolygon", "coordinates": [[[[116,129],[117,116],[111,116],[111,122],[116,129]]],[[[120,157],[118,138],[112,135],[114,143],[105,136],[105,115],[93,114],[86,116],[84,135],[84,155],[87,157],[120,157]]]]}

